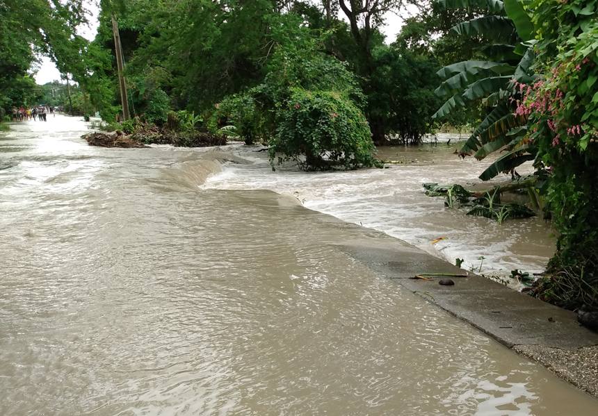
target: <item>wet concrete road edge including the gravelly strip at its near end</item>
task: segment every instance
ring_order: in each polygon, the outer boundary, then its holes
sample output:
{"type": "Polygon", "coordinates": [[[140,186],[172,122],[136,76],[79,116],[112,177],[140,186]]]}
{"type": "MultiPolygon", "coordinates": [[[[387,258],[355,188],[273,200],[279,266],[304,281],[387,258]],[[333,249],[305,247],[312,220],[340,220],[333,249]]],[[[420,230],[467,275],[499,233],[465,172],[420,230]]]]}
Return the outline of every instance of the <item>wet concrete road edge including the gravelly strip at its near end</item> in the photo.
{"type": "Polygon", "coordinates": [[[440,276],[414,278],[466,272],[380,231],[314,215],[317,221],[362,232],[363,238],[337,244],[346,255],[598,398],[598,334],[579,325],[576,313],[471,272],[451,277],[454,285],[439,285],[440,276]]]}

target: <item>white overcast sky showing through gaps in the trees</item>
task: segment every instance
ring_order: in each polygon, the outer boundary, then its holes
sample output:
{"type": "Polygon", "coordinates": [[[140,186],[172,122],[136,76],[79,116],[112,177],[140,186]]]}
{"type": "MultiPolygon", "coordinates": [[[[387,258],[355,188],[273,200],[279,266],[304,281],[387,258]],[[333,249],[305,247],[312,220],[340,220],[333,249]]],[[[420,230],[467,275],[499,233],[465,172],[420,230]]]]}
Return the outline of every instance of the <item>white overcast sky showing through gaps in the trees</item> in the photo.
{"type": "MultiPolygon", "coordinates": [[[[95,34],[97,33],[97,26],[99,22],[97,21],[97,15],[99,14],[99,8],[93,3],[88,4],[88,10],[90,11],[90,15],[88,15],[89,26],[82,26],[79,28],[79,35],[83,36],[88,40],[93,40],[95,38],[95,34]]],[[[343,13],[339,13],[341,18],[345,16],[343,13]]],[[[394,13],[387,13],[385,16],[386,25],[382,28],[382,33],[386,35],[387,43],[394,42],[396,35],[399,31],[401,31],[401,26],[403,26],[403,18],[395,15],[394,13]]],[[[49,83],[51,81],[58,80],[60,81],[60,72],[56,68],[56,65],[49,60],[46,56],[43,56],[41,59],[41,63],[39,65],[39,71],[35,74],[35,81],[43,85],[45,83],[49,83]]]]}

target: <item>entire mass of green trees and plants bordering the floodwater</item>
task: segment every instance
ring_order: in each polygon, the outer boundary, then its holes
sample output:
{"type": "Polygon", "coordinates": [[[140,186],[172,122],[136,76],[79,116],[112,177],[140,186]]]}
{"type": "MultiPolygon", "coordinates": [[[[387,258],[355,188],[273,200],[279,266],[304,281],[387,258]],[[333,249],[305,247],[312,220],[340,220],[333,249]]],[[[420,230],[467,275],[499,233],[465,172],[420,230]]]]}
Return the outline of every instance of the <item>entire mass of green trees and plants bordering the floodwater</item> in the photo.
{"type": "Polygon", "coordinates": [[[45,54],[71,83],[67,110],[97,111],[108,129],[145,143],[266,144],[273,169],[289,160],[302,169],[380,166],[375,146],[417,144],[441,126],[471,126],[458,156],[500,152],[480,178],[507,173],[515,182],[482,193],[428,184],[426,192],[499,223],[551,218],[556,255],[531,292],[565,308],[597,308],[597,1],[99,6],[97,35],[88,41],[77,34],[86,22],[82,0],[0,5],[7,114],[13,105],[49,103],[57,91],[64,97],[63,84],[33,81],[35,57],[45,54]],[[396,38],[385,38],[385,14],[409,3],[417,13],[396,38]],[[530,178],[518,178],[523,163],[535,168],[530,178]],[[501,203],[510,186],[527,192],[529,206],[501,203]]]}

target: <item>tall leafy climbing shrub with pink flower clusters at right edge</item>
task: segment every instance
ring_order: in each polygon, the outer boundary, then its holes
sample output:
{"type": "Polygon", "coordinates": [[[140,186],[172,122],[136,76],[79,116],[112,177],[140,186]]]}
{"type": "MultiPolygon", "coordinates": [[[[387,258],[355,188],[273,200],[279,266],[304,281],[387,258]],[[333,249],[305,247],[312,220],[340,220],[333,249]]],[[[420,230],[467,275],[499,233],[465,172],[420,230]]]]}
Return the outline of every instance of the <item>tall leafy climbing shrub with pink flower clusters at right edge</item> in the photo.
{"type": "MultiPolygon", "coordinates": [[[[547,181],[544,191],[559,233],[549,268],[585,279],[598,293],[598,23],[595,1],[534,0],[537,28],[535,69],[540,78],[516,84],[518,115],[529,117],[529,142],[536,147],[536,167],[547,181]]],[[[556,281],[556,278],[553,279],[556,281]]],[[[571,285],[567,283],[570,288],[571,285]]],[[[581,285],[584,286],[584,285],[581,285]]],[[[585,286],[584,286],[585,287],[585,286]]],[[[586,288],[586,289],[588,289],[586,288]]],[[[551,289],[552,291],[553,289],[551,289]]],[[[551,297],[578,308],[579,290],[551,297]]],[[[592,291],[590,291],[592,292],[592,291]]],[[[553,299],[554,300],[554,299],[553,299]]]]}

